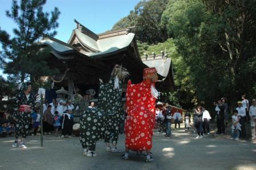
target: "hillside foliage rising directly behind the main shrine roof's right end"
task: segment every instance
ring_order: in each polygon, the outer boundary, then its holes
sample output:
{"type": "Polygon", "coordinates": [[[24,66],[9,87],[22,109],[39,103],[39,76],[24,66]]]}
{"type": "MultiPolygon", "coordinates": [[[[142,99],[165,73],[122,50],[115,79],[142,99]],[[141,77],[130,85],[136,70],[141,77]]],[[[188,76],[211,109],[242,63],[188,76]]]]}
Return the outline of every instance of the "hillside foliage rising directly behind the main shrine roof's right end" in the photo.
{"type": "Polygon", "coordinates": [[[167,3],[168,0],[141,1],[127,17],[115,23],[113,30],[136,26],[134,33],[139,41],[149,44],[164,42],[168,35],[161,17],[167,3]]]}

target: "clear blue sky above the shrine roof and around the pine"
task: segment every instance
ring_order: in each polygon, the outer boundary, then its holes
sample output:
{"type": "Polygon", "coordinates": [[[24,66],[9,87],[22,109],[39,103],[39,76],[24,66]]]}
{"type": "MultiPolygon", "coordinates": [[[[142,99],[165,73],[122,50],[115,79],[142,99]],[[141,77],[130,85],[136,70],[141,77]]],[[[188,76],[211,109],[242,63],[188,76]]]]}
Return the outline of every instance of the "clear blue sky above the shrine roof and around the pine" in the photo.
{"type": "MultiPolygon", "coordinates": [[[[103,33],[110,30],[119,19],[126,17],[138,2],[139,0],[47,0],[44,10],[50,12],[56,6],[61,11],[55,38],[67,42],[75,28],[74,19],[94,33],[103,33]]],[[[15,23],[5,15],[5,11],[11,9],[11,3],[11,0],[0,0],[0,27],[13,35],[15,23]]]]}

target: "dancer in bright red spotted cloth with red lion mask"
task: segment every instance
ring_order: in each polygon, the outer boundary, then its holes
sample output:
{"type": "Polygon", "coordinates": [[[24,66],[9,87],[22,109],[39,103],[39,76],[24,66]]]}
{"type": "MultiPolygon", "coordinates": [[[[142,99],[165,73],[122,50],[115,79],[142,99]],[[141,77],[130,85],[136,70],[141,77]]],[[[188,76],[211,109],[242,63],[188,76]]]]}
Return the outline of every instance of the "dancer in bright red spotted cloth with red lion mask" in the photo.
{"type": "Polygon", "coordinates": [[[150,150],[155,126],[155,99],[159,92],[155,89],[157,70],[145,68],[143,82],[131,84],[129,80],[126,92],[127,119],[125,123],[125,154],[123,159],[129,159],[129,150],[147,153],[147,162],[153,161],[150,150]]]}

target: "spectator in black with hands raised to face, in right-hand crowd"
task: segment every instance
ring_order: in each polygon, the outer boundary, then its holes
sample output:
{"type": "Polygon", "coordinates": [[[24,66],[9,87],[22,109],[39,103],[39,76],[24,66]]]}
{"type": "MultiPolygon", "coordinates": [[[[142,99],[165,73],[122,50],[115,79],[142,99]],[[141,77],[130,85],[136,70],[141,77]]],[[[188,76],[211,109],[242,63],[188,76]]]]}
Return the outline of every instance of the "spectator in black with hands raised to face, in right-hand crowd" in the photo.
{"type": "Polygon", "coordinates": [[[214,102],[215,110],[217,110],[217,134],[218,135],[224,135],[225,133],[225,123],[224,123],[224,113],[225,113],[225,106],[222,103],[222,100],[218,100],[217,102],[214,102]]]}

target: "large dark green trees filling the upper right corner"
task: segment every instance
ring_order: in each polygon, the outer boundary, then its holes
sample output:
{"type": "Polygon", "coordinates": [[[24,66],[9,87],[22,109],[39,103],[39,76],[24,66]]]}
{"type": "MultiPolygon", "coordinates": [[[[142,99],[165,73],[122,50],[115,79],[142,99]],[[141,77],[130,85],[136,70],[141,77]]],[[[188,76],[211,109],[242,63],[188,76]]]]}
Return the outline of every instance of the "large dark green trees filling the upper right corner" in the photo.
{"type": "Polygon", "coordinates": [[[196,98],[207,106],[226,96],[231,109],[255,94],[255,1],[170,1],[163,13],[196,98]]]}

